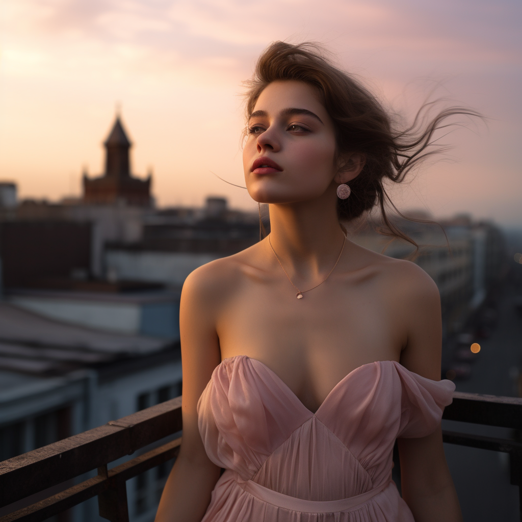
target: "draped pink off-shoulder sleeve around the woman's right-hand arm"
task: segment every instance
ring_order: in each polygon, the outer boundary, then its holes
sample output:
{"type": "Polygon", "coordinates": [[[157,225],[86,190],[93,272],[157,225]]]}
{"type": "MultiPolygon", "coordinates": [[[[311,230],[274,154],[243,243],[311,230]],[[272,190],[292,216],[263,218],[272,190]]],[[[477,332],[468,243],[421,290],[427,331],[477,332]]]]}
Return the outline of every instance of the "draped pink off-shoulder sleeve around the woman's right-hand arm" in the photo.
{"type": "Polygon", "coordinates": [[[455,384],[447,379],[432,381],[396,363],[402,386],[398,437],[425,437],[441,422],[444,408],[452,404],[455,384]]]}

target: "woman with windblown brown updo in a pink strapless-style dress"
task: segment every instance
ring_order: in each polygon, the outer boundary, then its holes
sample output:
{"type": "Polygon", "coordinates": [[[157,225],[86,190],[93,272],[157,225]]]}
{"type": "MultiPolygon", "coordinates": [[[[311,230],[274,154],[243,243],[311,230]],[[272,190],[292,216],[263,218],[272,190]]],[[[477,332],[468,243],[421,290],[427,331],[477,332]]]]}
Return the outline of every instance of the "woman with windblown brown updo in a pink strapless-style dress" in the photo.
{"type": "Polygon", "coordinates": [[[312,44],[259,58],[243,158],[271,232],[185,281],[183,444],[157,522],[461,520],[442,446],[455,386],[439,380],[437,287],[340,225],[384,212],[383,179],[401,181],[457,112],[394,133],[312,44]]]}

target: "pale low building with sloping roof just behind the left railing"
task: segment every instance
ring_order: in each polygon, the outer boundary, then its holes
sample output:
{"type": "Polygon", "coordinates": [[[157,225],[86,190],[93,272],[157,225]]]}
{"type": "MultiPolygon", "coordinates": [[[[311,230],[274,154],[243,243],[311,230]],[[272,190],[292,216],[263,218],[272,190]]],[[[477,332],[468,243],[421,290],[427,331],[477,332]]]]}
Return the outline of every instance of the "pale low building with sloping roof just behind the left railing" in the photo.
{"type": "MultiPolygon", "coordinates": [[[[172,339],[67,324],[2,302],[0,460],[177,397],[181,378],[172,339]]],[[[163,487],[169,468],[152,471],[128,482],[133,521],[155,515],[148,492],[163,487]]],[[[93,499],[63,520],[98,519],[93,499]]]]}

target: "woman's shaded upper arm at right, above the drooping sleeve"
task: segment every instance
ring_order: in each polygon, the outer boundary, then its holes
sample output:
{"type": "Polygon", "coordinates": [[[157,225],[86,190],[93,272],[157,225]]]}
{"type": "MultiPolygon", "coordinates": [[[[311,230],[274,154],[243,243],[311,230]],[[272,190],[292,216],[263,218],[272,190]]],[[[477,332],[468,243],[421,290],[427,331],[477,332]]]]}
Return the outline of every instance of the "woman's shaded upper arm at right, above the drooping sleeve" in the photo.
{"type": "Polygon", "coordinates": [[[400,363],[434,381],[441,378],[441,298],[433,279],[413,263],[403,265],[401,314],[406,346],[400,363]]]}

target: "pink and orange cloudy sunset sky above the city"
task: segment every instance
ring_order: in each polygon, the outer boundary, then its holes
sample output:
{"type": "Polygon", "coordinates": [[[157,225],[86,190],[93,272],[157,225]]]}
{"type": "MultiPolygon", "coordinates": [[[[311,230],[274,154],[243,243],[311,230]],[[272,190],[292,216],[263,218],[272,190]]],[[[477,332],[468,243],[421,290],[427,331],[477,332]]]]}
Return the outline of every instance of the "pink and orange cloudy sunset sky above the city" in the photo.
{"type": "Polygon", "coordinates": [[[432,93],[489,118],[444,138],[400,208],[522,227],[519,0],[2,0],[0,16],[0,179],[21,197],[79,195],[120,104],[159,205],[254,208],[210,172],[244,183],[241,82],[271,41],[314,40],[406,117],[432,93]]]}

